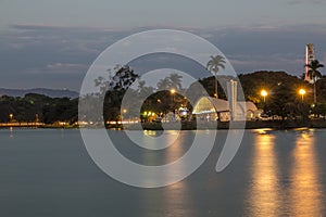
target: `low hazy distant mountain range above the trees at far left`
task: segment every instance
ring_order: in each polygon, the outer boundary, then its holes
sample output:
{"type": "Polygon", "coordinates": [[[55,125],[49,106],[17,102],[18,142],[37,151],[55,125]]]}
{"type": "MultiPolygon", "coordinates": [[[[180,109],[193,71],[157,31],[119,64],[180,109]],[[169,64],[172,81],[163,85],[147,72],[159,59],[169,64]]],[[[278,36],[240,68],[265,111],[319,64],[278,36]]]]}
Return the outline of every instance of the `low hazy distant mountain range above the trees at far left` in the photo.
{"type": "Polygon", "coordinates": [[[67,89],[48,89],[48,88],[33,88],[33,89],[7,89],[0,88],[0,95],[24,97],[27,93],[45,94],[50,98],[78,98],[79,93],[67,89]]]}

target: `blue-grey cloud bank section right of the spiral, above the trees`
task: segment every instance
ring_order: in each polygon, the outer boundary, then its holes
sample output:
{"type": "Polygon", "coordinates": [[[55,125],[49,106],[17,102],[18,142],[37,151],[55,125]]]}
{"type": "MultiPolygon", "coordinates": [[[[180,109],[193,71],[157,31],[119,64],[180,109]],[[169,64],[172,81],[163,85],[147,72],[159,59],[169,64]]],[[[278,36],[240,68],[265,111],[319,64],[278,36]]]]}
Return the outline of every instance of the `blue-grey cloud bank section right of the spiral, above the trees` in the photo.
{"type": "Polygon", "coordinates": [[[301,75],[306,43],[314,43],[317,59],[325,60],[325,33],[326,25],[248,26],[214,30],[214,37],[209,40],[225,53],[239,73],[283,69],[301,75]],[[218,37],[221,35],[224,37],[218,37]]]}

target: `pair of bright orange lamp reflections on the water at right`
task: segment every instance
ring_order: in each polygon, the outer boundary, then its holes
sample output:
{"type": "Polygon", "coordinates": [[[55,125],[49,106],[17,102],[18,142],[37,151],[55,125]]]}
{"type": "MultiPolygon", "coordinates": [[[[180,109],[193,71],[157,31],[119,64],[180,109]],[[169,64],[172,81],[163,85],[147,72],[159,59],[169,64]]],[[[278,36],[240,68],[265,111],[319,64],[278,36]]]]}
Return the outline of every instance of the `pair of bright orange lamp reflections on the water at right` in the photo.
{"type": "Polygon", "coordinates": [[[254,139],[246,216],[323,216],[314,131],[260,133],[254,139]]]}

